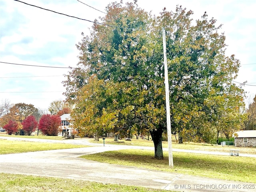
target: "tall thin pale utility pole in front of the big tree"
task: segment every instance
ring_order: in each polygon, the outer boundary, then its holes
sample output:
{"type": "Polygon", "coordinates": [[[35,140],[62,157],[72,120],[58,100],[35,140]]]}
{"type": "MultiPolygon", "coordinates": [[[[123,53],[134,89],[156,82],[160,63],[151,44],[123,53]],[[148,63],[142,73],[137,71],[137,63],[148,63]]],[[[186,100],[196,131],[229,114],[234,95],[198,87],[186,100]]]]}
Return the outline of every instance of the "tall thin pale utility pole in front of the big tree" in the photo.
{"type": "Polygon", "coordinates": [[[166,102],[166,122],[167,122],[167,135],[168,135],[169,166],[171,168],[173,168],[169,80],[168,80],[168,66],[167,66],[167,57],[166,57],[166,37],[165,37],[164,27],[163,27],[163,50],[164,50],[164,84],[165,84],[165,102],[166,102]]]}

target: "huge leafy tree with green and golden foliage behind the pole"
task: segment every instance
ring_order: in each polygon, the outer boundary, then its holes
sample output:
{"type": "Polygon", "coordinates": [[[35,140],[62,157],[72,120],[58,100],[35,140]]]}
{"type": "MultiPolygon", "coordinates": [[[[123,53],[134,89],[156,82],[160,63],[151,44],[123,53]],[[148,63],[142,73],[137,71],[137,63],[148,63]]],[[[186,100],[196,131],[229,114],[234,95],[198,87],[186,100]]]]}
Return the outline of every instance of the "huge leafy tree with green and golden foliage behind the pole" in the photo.
{"type": "Polygon", "coordinates": [[[136,3],[108,5],[106,16],[100,18],[103,25],[95,23],[90,36],[77,45],[78,68],[64,82],[68,101],[76,104],[72,117],[77,126],[149,131],[155,158],[163,158],[164,26],[172,132],[179,134],[179,142],[209,139],[214,115],[224,114],[227,107],[215,110],[208,101],[234,94],[239,103],[233,104],[242,106],[243,91],[232,83],[239,61],[225,56],[225,36],[218,33],[221,26],[216,26],[216,20],[204,13],[193,21],[192,14],[177,6],[175,12],[164,9],[154,17],[136,3]]]}

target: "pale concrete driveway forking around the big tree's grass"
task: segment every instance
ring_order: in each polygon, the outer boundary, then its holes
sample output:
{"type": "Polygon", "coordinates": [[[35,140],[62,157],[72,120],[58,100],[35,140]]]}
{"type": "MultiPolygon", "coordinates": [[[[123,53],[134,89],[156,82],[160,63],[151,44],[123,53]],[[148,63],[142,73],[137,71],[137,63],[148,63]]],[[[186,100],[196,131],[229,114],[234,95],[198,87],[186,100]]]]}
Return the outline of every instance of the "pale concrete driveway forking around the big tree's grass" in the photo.
{"type": "MultiPolygon", "coordinates": [[[[4,139],[6,139],[6,137],[4,139]]],[[[43,140],[40,141],[43,142],[43,140]]],[[[71,142],[71,140],[63,140],[60,142],[71,142]]],[[[88,144],[86,140],[75,139],[73,142],[88,144]]],[[[129,166],[110,165],[78,158],[84,154],[126,148],[131,148],[131,146],[106,145],[0,155],[0,172],[72,178],[184,192],[256,191],[256,184],[254,183],[217,180],[129,166]],[[251,189],[248,190],[248,187],[251,189]]],[[[132,148],[135,148],[135,146],[132,148]]]]}

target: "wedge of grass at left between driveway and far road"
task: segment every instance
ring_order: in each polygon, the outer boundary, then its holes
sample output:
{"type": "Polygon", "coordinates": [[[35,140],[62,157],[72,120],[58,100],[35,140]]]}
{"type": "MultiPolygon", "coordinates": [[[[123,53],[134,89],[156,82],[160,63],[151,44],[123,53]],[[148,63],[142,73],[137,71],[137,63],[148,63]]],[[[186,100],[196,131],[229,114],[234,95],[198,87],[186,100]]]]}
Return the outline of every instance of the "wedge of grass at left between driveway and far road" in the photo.
{"type": "Polygon", "coordinates": [[[29,141],[12,141],[0,139],[0,154],[23,153],[33,151],[82,148],[84,145],[62,144],[62,143],[41,143],[29,141]]]}

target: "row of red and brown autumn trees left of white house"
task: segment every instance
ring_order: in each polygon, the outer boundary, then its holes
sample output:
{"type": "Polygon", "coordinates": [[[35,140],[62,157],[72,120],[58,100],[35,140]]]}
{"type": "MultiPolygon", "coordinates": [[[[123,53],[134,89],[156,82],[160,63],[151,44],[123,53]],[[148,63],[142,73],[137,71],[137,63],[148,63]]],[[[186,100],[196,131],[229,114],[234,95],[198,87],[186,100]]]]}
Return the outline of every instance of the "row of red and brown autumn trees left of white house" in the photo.
{"type": "Polygon", "coordinates": [[[2,100],[0,104],[0,126],[8,134],[20,135],[41,130],[42,134],[57,136],[61,132],[60,116],[70,113],[70,108],[65,102],[55,100],[51,102],[48,114],[46,110],[39,110],[32,104],[10,104],[8,100],[2,100]],[[56,108],[58,106],[58,108],[56,108]]]}

